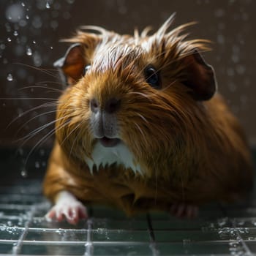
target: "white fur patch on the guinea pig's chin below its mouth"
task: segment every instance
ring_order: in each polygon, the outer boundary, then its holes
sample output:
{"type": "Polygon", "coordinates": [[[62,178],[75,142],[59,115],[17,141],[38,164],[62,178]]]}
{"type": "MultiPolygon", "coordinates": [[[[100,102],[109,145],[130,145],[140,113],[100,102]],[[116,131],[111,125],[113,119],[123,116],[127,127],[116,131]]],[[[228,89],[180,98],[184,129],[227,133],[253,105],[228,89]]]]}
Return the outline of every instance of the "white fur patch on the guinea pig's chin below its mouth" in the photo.
{"type": "Polygon", "coordinates": [[[123,165],[125,168],[131,168],[135,173],[141,173],[140,165],[135,163],[133,154],[124,143],[118,143],[117,146],[106,148],[101,143],[96,143],[94,151],[91,154],[92,159],[85,157],[86,163],[92,173],[94,165],[99,169],[102,165],[123,165]]]}

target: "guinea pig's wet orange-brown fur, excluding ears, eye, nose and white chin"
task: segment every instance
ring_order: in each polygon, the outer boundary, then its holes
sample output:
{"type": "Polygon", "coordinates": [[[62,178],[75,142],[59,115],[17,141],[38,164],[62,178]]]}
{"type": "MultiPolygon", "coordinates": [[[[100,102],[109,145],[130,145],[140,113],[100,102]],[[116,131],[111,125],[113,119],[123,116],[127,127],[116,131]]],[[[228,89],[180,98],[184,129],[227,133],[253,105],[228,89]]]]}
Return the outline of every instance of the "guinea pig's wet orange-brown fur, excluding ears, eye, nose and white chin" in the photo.
{"type": "Polygon", "coordinates": [[[62,189],[84,203],[107,203],[127,214],[168,210],[172,203],[233,200],[252,187],[249,149],[236,118],[219,94],[196,101],[183,86],[185,56],[203,39],[186,40],[184,29],[167,31],[173,18],[152,35],[119,35],[87,26],[69,42],[83,45],[90,72],[59,98],[56,143],[45,176],[45,195],[53,201],[62,189]],[[161,72],[162,89],[148,86],[148,64],[161,72]],[[121,99],[118,130],[142,173],[122,165],[94,167],[86,163],[96,140],[90,125],[90,99],[100,104],[121,99]]]}

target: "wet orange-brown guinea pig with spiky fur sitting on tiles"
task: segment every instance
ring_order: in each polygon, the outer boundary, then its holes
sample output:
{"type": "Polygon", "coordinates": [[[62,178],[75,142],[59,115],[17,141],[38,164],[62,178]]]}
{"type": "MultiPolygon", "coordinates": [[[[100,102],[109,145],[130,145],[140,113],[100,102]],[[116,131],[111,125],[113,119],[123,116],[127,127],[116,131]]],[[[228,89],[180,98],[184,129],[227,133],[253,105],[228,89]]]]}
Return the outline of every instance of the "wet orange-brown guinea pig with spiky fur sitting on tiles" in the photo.
{"type": "Polygon", "coordinates": [[[172,22],[133,36],[85,26],[66,40],[55,63],[67,87],[43,184],[48,219],[75,224],[91,203],[193,217],[252,188],[244,132],[201,55],[209,42],[187,39],[192,23],[172,22]]]}

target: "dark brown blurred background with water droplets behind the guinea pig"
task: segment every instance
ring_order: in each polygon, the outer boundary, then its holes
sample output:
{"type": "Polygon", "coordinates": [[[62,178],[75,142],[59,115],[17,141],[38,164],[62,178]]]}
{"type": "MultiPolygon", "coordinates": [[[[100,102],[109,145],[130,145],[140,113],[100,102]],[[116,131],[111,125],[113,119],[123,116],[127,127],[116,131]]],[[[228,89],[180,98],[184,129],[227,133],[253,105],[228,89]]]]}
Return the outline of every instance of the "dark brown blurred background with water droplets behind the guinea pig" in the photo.
{"type": "Polygon", "coordinates": [[[204,57],[255,145],[255,10],[252,0],[1,0],[0,146],[22,154],[26,147],[52,145],[54,101],[61,90],[52,64],[67,49],[59,39],[81,25],[129,34],[148,25],[158,29],[173,12],[173,28],[196,20],[190,37],[214,42],[204,57]]]}

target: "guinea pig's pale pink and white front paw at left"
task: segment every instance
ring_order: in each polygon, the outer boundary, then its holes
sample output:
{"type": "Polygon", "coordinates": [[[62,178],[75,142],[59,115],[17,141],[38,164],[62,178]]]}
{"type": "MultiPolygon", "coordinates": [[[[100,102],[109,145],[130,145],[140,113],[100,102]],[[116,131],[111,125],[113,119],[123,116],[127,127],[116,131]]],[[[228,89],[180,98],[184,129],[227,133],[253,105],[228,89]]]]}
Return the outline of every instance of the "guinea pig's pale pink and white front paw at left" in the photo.
{"type": "Polygon", "coordinates": [[[45,217],[49,222],[67,220],[70,224],[76,225],[80,219],[87,219],[88,214],[86,206],[78,200],[61,200],[48,211],[45,217]]]}

